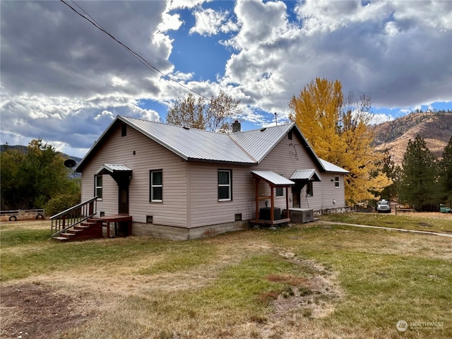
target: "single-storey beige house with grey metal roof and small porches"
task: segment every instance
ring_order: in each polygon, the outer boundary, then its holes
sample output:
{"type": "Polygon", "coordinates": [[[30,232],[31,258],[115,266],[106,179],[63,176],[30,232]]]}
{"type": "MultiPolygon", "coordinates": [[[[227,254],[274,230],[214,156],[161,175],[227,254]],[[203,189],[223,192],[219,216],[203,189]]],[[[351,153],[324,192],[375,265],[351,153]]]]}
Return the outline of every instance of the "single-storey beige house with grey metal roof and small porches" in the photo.
{"type": "Polygon", "coordinates": [[[132,234],[191,239],[345,207],[348,172],[316,156],[296,124],[214,133],[118,116],[76,167],[97,215],[132,234]],[[265,214],[265,215],[264,215],[265,214]]]}

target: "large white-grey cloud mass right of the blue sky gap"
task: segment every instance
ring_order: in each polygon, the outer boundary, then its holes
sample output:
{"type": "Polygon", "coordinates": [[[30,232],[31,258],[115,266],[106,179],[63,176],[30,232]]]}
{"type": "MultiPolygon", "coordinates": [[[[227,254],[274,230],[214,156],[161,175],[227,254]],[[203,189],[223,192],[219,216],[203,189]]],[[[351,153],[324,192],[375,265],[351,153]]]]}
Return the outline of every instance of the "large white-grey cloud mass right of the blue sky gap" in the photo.
{"type": "Polygon", "coordinates": [[[418,2],[307,0],[295,7],[299,23],[291,23],[282,2],[238,1],[240,31],[223,42],[237,53],[222,81],[238,84],[251,105],[284,114],[290,97],[316,77],[337,79],[379,107],[451,101],[452,53],[444,47],[452,32],[444,22],[452,3],[418,2]]]}

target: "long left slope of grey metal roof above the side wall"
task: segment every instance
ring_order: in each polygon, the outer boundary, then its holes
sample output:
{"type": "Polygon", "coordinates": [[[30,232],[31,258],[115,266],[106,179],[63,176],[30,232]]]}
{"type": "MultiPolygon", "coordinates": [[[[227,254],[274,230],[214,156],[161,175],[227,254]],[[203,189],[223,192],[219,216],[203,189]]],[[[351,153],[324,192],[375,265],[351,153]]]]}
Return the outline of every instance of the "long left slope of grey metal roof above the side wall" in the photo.
{"type": "Polygon", "coordinates": [[[225,133],[186,129],[182,126],[129,117],[119,117],[119,119],[185,160],[255,164],[254,159],[244,153],[239,145],[225,133]]]}

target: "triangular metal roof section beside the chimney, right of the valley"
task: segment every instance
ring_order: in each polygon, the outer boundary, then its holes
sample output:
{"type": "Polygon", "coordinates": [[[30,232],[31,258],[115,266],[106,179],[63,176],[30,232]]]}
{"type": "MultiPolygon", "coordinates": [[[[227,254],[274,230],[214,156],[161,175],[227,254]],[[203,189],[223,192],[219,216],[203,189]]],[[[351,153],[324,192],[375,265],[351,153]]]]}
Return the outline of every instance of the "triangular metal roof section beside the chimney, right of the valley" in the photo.
{"type": "Polygon", "coordinates": [[[230,133],[229,136],[256,162],[261,162],[294,125],[295,123],[283,124],[252,131],[235,132],[230,133]]]}

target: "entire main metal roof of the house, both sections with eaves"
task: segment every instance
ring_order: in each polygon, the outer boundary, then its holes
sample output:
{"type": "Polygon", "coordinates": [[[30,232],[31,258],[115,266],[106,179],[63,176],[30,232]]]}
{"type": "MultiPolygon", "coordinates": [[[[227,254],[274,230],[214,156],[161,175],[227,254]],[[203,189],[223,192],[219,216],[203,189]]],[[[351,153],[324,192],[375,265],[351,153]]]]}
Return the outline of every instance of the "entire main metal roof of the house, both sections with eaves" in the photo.
{"type": "Polygon", "coordinates": [[[258,165],[275,148],[275,145],[278,145],[287,136],[289,131],[294,131],[299,135],[299,141],[316,165],[319,166],[319,169],[325,169],[327,172],[348,173],[345,169],[317,157],[295,123],[226,134],[201,129],[186,129],[182,126],[119,115],[97,139],[81,162],[78,163],[76,172],[83,170],[85,163],[95,153],[95,150],[102,145],[105,138],[111,133],[112,127],[118,121],[129,124],[133,129],[148,136],[148,138],[171,150],[184,160],[233,163],[237,165],[258,165]]]}

